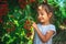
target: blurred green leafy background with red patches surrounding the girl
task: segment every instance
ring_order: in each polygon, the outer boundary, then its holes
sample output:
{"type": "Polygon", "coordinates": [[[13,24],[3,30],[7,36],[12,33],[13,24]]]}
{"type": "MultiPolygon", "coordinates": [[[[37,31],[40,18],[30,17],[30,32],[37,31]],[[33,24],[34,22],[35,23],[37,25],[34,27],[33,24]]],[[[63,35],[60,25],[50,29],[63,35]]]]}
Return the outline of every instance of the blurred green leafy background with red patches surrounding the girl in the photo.
{"type": "MultiPolygon", "coordinates": [[[[36,6],[43,1],[45,0],[0,0],[0,44],[33,44],[33,29],[29,33],[24,25],[26,20],[37,22],[36,6]]],[[[66,44],[66,0],[47,0],[47,3],[54,8],[57,31],[53,43],[66,44]]]]}

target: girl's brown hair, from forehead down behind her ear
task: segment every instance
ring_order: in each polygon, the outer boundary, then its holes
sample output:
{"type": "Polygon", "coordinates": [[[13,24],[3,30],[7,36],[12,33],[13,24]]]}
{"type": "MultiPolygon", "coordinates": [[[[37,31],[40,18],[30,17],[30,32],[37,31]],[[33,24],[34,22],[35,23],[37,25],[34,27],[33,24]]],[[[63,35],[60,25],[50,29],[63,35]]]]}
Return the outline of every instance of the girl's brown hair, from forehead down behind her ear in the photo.
{"type": "Polygon", "coordinates": [[[41,6],[42,6],[42,8],[43,8],[47,13],[50,13],[50,12],[52,13],[51,23],[53,23],[53,21],[54,21],[53,7],[50,6],[50,4],[47,4],[46,2],[43,2],[43,3],[41,3],[41,4],[37,6],[37,10],[38,10],[38,7],[41,7],[41,6]]]}

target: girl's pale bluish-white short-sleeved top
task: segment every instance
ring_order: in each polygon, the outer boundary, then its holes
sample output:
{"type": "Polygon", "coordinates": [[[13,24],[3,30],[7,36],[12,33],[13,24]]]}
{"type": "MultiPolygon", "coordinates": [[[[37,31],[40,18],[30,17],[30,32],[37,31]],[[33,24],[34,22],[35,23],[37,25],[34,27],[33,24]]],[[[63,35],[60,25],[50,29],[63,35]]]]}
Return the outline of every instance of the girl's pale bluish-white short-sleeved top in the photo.
{"type": "MultiPolygon", "coordinates": [[[[48,24],[48,25],[37,24],[37,28],[42,32],[43,35],[45,35],[46,32],[48,32],[48,31],[54,31],[55,32],[53,34],[53,36],[56,34],[55,25],[53,25],[53,24],[48,24]]],[[[35,32],[35,34],[34,34],[34,44],[52,44],[53,36],[51,36],[51,38],[46,43],[43,43],[41,41],[41,38],[38,37],[37,33],[35,32]]]]}

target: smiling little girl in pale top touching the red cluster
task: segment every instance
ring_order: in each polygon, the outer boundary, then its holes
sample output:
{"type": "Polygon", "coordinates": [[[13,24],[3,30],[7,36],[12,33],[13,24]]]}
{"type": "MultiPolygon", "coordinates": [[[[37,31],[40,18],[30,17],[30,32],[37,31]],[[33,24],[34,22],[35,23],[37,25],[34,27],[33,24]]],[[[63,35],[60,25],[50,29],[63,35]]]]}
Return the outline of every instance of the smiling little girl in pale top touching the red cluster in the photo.
{"type": "Polygon", "coordinates": [[[34,44],[52,44],[52,38],[56,34],[55,25],[51,24],[53,11],[50,4],[42,3],[37,7],[37,20],[40,23],[33,22],[34,44]]]}

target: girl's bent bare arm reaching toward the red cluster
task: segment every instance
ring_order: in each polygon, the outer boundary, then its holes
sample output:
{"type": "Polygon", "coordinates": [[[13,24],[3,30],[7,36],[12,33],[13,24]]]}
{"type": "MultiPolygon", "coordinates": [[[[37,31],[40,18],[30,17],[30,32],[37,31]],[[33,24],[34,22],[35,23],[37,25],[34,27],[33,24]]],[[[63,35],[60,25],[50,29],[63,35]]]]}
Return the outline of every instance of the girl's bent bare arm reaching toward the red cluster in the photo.
{"type": "Polygon", "coordinates": [[[54,34],[54,31],[48,31],[46,33],[46,35],[43,35],[35,23],[33,23],[32,25],[35,29],[35,31],[37,32],[41,41],[44,42],[44,43],[47,42],[52,37],[52,35],[54,34]]]}

